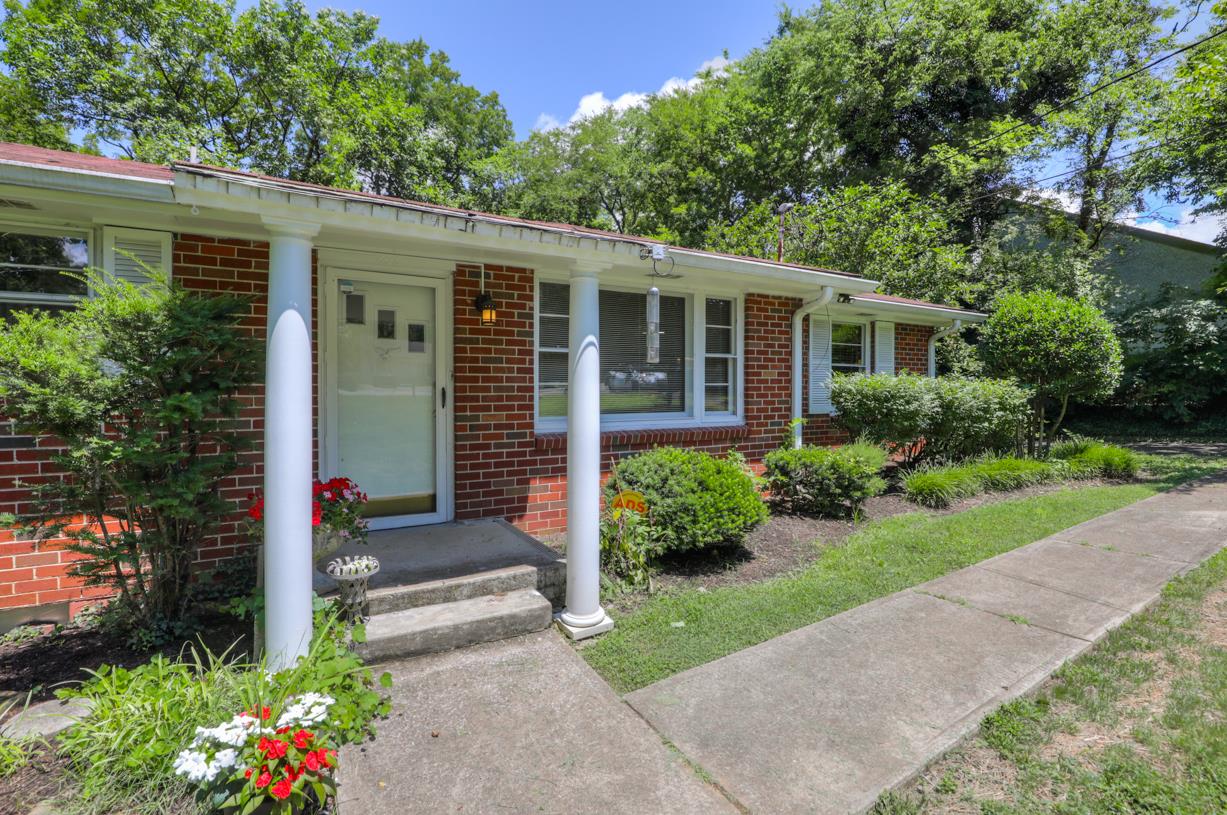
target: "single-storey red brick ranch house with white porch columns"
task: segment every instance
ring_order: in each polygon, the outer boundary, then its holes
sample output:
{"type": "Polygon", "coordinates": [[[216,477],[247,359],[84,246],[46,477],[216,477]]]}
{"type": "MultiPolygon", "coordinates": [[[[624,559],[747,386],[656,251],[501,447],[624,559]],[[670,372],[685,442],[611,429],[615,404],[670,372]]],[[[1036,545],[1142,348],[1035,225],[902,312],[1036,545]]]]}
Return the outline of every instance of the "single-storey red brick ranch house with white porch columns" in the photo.
{"type": "MultiPolygon", "coordinates": [[[[254,297],[247,325],[267,338],[267,377],[245,419],[263,444],[229,480],[236,511],[199,560],[249,545],[242,506],[264,489],[269,605],[282,593],[288,608],[269,639],[291,649],[309,626],[317,474],[367,490],[375,528],[506,518],[541,534],[569,517],[562,619],[582,633],[607,621],[598,514],[614,459],[679,444],[758,463],[798,415],[806,442],[838,442],[833,372],[931,374],[935,335],[983,317],[827,269],[13,144],[0,144],[0,242],[5,315],[87,297],[61,269],[142,277],[130,255],[187,288],[254,297]],[[37,264],[21,257],[32,242],[37,264]]],[[[0,512],[21,514],[26,485],[54,477],[52,444],[0,423],[0,512]]],[[[0,535],[10,622],[90,599],[54,541],[0,535]]]]}

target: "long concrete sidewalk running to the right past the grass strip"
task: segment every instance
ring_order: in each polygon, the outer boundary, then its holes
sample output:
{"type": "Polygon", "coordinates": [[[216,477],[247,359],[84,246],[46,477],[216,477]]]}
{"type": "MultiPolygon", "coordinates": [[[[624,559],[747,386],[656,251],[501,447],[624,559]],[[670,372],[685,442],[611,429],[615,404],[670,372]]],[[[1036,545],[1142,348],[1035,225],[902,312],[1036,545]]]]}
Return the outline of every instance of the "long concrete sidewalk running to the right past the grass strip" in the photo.
{"type": "Polygon", "coordinates": [[[1225,544],[1220,475],[627,701],[745,810],[860,813],[1225,544]]]}

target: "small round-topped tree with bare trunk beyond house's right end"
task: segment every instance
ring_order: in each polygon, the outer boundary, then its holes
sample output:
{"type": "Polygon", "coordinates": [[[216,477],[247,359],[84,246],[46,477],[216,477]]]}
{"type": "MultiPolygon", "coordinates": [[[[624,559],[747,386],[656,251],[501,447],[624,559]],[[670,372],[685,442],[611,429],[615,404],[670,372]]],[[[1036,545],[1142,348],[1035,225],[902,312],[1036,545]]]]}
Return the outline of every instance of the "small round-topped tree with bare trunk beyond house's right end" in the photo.
{"type": "Polygon", "coordinates": [[[980,331],[990,373],[1032,389],[1027,450],[1052,444],[1070,399],[1110,396],[1120,383],[1120,340],[1103,312],[1052,292],[1006,295],[980,331]],[[1053,403],[1059,406],[1049,420],[1053,403]]]}

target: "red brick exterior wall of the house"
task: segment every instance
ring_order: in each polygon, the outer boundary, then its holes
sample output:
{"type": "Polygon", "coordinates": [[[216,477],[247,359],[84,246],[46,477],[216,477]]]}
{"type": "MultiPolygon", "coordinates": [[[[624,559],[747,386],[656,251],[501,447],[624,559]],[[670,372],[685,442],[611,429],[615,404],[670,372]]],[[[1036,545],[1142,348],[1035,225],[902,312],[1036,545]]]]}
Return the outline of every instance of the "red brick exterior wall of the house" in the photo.
{"type": "MultiPolygon", "coordinates": [[[[232,291],[253,296],[244,328],[263,336],[266,319],[269,248],[266,243],[183,234],[174,241],[173,274],[198,291],[232,291]]],[[[313,279],[315,276],[313,270],[313,279]]],[[[458,266],[454,286],[455,514],[458,519],[503,517],[533,533],[566,527],[566,437],[534,432],[534,274],[529,269],[487,266],[486,290],[499,308],[494,326],[482,326],[472,308],[480,269],[458,266]]],[[[317,287],[313,285],[312,291],[317,287]]],[[[313,295],[318,325],[319,304],[313,295]]],[[[694,447],[710,453],[736,448],[753,464],[783,437],[791,415],[791,318],[796,298],[745,297],[745,423],[669,431],[620,431],[601,438],[602,466],[620,457],[661,444],[694,447]]],[[[928,369],[931,329],[898,324],[898,368],[928,369]]],[[[802,345],[802,347],[807,347],[802,345]]],[[[315,378],[318,382],[318,358],[315,378]]],[[[806,376],[807,376],[807,366],[806,376]]],[[[802,382],[802,392],[807,383],[802,382]]],[[[318,390],[317,390],[318,393],[318,390]]],[[[244,432],[255,443],[242,468],[226,479],[223,497],[233,512],[222,519],[201,549],[207,565],[237,555],[249,545],[243,524],[247,496],[263,485],[263,387],[243,395],[244,432]]],[[[315,406],[318,432],[318,405],[315,406]]],[[[829,416],[809,416],[807,443],[845,441],[829,416]]],[[[28,492],[17,481],[53,477],[49,439],[13,436],[0,423],[0,513],[21,513],[28,492]]],[[[318,462],[317,462],[318,464],[318,462]]],[[[0,530],[0,609],[75,601],[104,595],[85,590],[66,576],[70,555],[63,541],[13,540],[0,530]]]]}

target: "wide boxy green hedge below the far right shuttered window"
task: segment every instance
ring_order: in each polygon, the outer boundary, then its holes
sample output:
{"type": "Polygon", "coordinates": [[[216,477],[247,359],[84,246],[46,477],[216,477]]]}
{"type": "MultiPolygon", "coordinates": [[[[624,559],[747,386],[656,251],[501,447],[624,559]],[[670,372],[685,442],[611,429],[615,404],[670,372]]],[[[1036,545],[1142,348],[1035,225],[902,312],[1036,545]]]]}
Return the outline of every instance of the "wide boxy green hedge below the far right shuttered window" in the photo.
{"type": "Polygon", "coordinates": [[[909,465],[1012,450],[1028,414],[1027,393],[1011,382],[907,372],[836,377],[831,401],[842,427],[909,465]]]}

